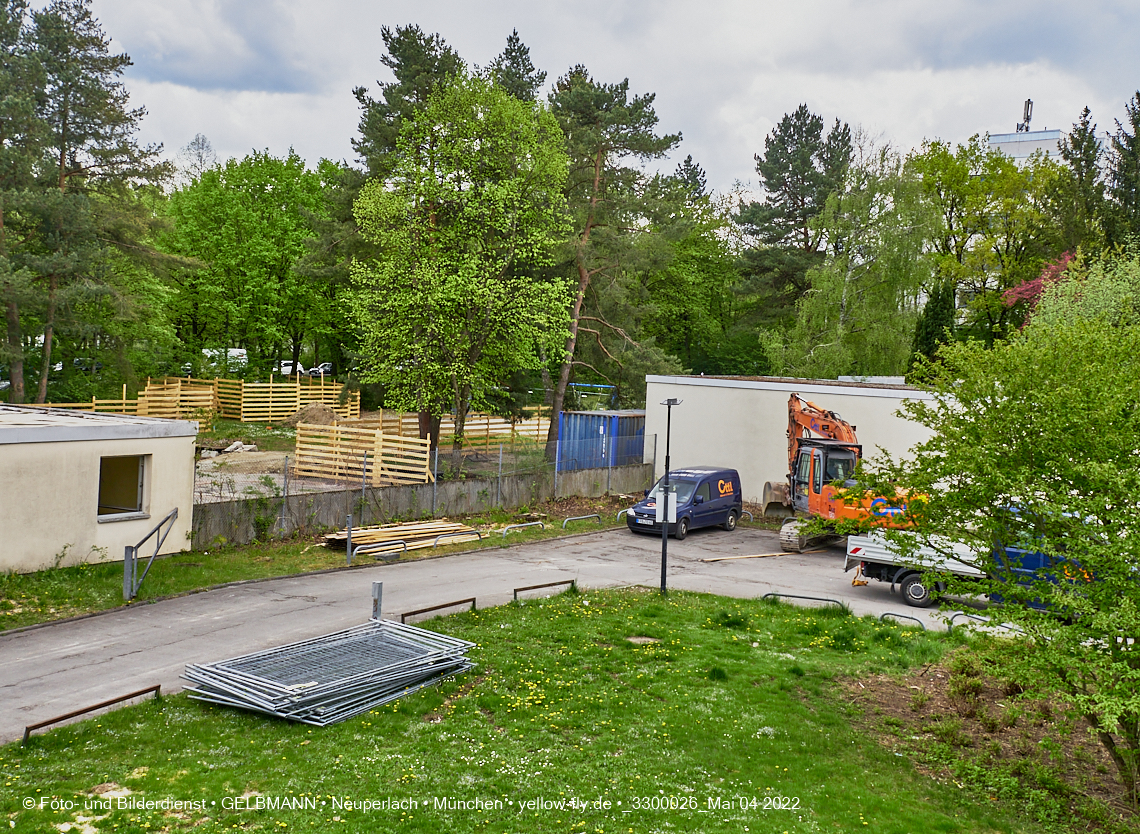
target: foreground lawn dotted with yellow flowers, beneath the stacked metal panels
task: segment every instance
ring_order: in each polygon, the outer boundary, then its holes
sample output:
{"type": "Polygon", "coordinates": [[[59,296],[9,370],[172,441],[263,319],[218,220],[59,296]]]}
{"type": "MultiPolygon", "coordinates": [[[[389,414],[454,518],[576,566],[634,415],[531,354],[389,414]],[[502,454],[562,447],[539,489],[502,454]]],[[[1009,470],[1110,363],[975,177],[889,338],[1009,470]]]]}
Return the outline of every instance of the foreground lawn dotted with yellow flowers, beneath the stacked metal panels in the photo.
{"type": "Polygon", "coordinates": [[[1077,829],[931,778],[840,686],[937,662],[961,638],[638,590],[425,624],[478,643],[478,668],[324,729],[185,696],[57,728],[0,749],[0,812],[19,832],[78,815],[96,818],[88,832],[1077,829]],[[142,804],[161,800],[198,804],[142,804]]]}

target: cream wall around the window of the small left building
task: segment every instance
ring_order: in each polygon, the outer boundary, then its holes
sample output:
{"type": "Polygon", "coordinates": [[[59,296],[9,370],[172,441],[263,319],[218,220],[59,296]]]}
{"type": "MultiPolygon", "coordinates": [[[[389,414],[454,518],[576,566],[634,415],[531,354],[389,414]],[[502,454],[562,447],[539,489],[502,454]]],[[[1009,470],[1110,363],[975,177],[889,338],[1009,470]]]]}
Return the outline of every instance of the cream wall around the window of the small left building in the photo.
{"type": "Polygon", "coordinates": [[[0,571],[51,567],[65,549],[59,565],[122,559],[174,507],[162,553],[189,548],[194,436],[0,444],[0,571]],[[99,459],[116,455],[150,456],[142,499],[149,517],[99,523],[99,459]]]}

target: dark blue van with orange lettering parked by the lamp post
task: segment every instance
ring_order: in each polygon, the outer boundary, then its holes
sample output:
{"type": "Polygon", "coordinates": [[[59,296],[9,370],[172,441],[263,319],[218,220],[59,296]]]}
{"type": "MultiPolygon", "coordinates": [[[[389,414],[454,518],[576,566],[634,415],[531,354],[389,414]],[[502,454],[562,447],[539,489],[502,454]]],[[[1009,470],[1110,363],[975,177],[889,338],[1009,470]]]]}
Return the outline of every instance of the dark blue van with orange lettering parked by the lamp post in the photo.
{"type": "MultiPolygon", "coordinates": [[[[663,481],[663,479],[662,479],[663,481]]],[[[677,493],[677,523],[669,524],[675,539],[684,539],[690,530],[719,525],[735,530],[744,499],[740,491],[740,474],[735,469],[693,466],[669,473],[669,489],[677,493]]],[[[661,534],[657,523],[657,501],[661,481],[645,492],[626,514],[626,525],[635,533],[661,534]]]]}

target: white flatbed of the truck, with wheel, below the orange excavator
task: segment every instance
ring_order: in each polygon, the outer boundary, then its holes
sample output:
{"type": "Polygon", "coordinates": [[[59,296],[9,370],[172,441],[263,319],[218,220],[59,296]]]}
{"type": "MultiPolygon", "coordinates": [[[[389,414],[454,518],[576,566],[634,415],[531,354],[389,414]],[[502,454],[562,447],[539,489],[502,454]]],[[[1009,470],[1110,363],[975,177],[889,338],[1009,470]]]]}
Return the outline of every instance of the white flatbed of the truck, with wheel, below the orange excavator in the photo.
{"type": "Polygon", "coordinates": [[[890,582],[891,591],[897,584],[907,605],[927,608],[934,603],[935,594],[944,590],[942,583],[931,582],[926,578],[927,571],[950,572],[958,577],[978,579],[985,575],[984,571],[976,567],[980,561],[966,545],[956,542],[946,542],[942,551],[931,547],[920,547],[914,557],[907,559],[898,555],[894,546],[882,535],[872,533],[847,537],[847,559],[844,562],[844,571],[858,567],[860,573],[868,579],[890,582]],[[952,556],[947,556],[947,553],[952,556]]]}

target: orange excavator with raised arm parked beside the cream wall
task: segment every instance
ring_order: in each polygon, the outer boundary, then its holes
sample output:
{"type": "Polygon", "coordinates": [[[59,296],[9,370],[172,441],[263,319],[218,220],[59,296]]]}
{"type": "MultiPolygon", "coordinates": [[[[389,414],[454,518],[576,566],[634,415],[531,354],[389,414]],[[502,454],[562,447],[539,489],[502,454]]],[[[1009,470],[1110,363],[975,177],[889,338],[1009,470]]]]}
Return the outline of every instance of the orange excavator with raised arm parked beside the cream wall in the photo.
{"type": "MultiPolygon", "coordinates": [[[[768,496],[783,491],[780,502],[790,506],[796,515],[785,518],[780,528],[780,546],[799,553],[829,537],[807,537],[803,532],[804,517],[826,520],[863,520],[874,516],[878,524],[890,526],[891,520],[904,512],[897,499],[887,500],[866,496],[858,504],[846,504],[838,497],[834,482],[854,486],[850,480],[855,465],[863,457],[863,447],[855,436],[855,426],[834,411],[820,408],[799,394],[788,400],[788,483],[783,490],[765,488],[768,496]],[[817,436],[813,436],[817,435],[817,436]]],[[[780,500],[777,497],[776,500],[780,500]]]]}

